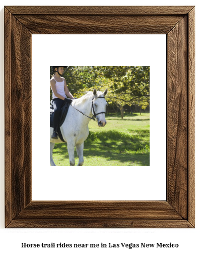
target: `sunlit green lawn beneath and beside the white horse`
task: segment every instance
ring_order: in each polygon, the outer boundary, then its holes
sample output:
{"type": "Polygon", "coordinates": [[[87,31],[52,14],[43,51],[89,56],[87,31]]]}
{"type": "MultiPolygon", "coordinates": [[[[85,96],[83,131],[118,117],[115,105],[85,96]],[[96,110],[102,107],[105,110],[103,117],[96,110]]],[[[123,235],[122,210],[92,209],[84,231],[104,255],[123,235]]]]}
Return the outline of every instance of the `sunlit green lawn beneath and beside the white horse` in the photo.
{"type": "MultiPolygon", "coordinates": [[[[149,114],[124,114],[106,116],[105,127],[90,121],[90,134],[84,143],[84,166],[149,166],[150,118],[149,114]]],[[[78,157],[75,153],[76,165],[78,157]]],[[[65,144],[55,144],[54,162],[69,166],[65,144]]]]}

